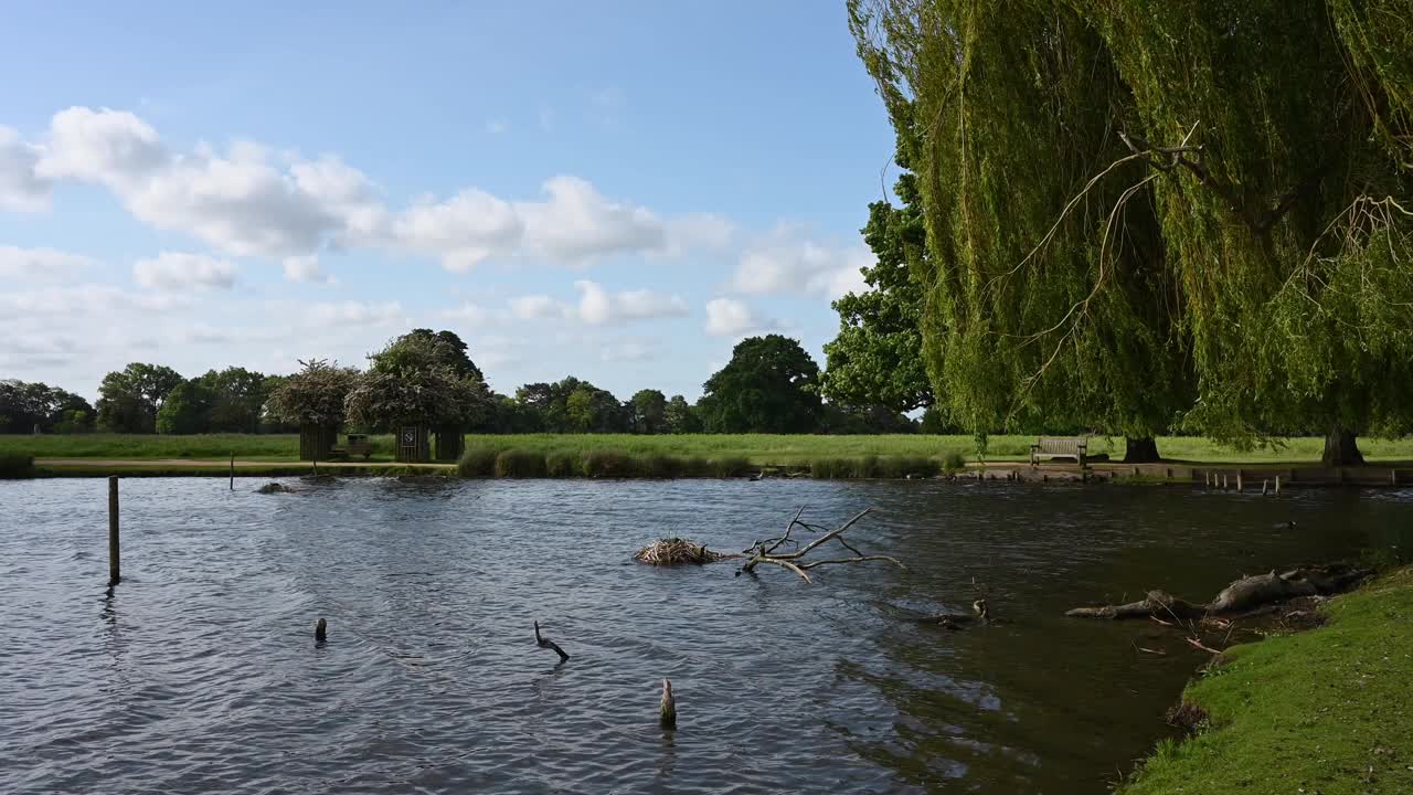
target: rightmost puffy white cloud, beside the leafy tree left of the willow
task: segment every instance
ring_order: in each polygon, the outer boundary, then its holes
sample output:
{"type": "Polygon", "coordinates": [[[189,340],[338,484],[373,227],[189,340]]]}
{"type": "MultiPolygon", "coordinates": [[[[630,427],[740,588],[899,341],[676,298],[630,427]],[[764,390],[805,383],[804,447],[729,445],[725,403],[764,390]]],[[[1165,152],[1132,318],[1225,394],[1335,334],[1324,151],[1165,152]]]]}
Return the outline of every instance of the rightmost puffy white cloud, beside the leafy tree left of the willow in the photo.
{"type": "Polygon", "coordinates": [[[793,293],[832,300],[866,289],[859,269],[873,263],[866,246],[831,246],[780,225],[740,253],[731,287],[753,296],[793,293]]]}

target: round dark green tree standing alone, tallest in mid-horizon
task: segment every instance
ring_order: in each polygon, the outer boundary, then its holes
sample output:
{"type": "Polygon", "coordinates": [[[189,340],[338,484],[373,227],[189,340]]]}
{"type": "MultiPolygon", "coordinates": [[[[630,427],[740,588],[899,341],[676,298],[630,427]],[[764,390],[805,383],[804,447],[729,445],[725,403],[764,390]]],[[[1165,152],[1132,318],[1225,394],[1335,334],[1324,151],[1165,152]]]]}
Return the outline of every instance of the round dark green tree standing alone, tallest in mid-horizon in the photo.
{"type": "Polygon", "coordinates": [[[800,342],[769,334],[736,344],[702,385],[708,433],[812,433],[820,429],[820,365],[800,342]]]}

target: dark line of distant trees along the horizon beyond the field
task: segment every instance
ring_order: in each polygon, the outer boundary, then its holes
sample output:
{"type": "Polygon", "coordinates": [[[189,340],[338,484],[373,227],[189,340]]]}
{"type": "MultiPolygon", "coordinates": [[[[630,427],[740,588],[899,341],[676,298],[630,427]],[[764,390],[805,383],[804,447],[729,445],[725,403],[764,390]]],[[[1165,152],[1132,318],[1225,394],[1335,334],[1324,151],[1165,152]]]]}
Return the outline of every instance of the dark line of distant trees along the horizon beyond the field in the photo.
{"type": "MultiPolygon", "coordinates": [[[[796,340],[739,342],[695,405],[640,389],[622,400],[575,376],[492,392],[455,332],[413,330],[369,356],[366,371],[321,359],[292,376],[244,368],[184,378],[134,362],[103,378],[90,406],[42,383],[0,382],[4,433],[288,433],[300,424],[382,431],[403,422],[471,433],[944,433],[927,414],[894,406],[825,402],[822,373],[796,340]]],[[[910,406],[911,407],[911,406],[910,406]]]]}

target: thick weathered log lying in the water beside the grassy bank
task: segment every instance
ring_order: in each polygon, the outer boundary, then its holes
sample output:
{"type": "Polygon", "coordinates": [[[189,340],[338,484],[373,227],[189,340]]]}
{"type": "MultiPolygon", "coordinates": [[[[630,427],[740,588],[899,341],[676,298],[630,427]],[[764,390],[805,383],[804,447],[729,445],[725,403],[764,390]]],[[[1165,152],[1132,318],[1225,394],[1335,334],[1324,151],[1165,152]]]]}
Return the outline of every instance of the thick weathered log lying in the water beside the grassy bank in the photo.
{"type": "Polygon", "coordinates": [[[1334,564],[1299,566],[1277,574],[1242,577],[1222,588],[1208,604],[1190,604],[1163,591],[1149,591],[1147,598],[1129,604],[1077,607],[1065,613],[1080,618],[1176,618],[1190,621],[1215,615],[1238,615],[1272,603],[1300,597],[1330,596],[1348,590],[1371,577],[1371,569],[1334,564]]]}

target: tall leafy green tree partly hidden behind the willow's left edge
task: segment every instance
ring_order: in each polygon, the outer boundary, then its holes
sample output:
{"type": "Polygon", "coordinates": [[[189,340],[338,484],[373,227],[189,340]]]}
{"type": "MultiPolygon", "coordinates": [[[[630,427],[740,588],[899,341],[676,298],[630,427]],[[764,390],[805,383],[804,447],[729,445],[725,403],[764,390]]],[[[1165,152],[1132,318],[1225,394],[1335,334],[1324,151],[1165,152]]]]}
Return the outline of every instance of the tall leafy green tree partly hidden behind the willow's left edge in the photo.
{"type": "MultiPolygon", "coordinates": [[[[903,156],[899,156],[903,160],[903,156]]],[[[917,177],[904,171],[893,192],[903,202],[869,205],[863,242],[876,262],[863,269],[869,289],[834,301],[839,335],[825,344],[824,396],[848,406],[911,412],[933,405],[923,359],[923,287],[916,273],[927,257],[917,177]]]]}

